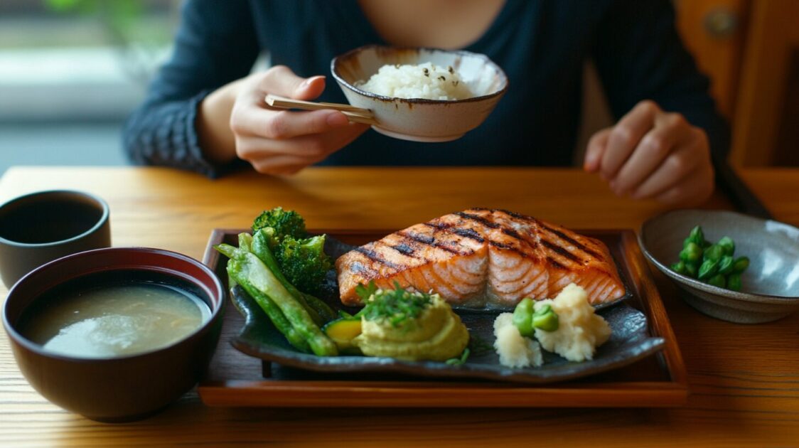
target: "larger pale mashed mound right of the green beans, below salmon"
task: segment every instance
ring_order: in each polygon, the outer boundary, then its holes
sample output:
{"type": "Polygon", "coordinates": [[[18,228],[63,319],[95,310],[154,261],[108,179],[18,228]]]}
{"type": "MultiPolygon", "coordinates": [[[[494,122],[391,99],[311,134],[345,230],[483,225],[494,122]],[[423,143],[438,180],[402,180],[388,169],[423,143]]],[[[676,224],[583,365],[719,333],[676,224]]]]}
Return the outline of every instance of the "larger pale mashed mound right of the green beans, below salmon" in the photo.
{"type": "Polygon", "coordinates": [[[593,359],[596,347],[610,338],[610,326],[602,316],[594,314],[586,290],[571,283],[555,299],[536,302],[535,310],[547,304],[558,314],[559,327],[555,331],[535,329],[535,338],[544,350],[553,351],[569,361],[593,359]]]}

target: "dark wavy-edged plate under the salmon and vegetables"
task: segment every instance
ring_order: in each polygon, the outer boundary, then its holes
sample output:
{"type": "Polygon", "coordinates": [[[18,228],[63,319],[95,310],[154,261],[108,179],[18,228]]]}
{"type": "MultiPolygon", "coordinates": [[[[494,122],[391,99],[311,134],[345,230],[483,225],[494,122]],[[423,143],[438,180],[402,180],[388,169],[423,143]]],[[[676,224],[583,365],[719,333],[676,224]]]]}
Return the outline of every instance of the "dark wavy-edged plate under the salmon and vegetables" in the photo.
{"type": "MultiPolygon", "coordinates": [[[[329,237],[328,237],[329,238],[329,237]]],[[[342,254],[352,246],[332,239],[328,253],[342,254]]],[[[625,274],[622,272],[622,280],[625,274]]],[[[629,284],[628,282],[626,282],[629,284]]],[[[455,310],[471,334],[471,355],[462,366],[444,362],[407,362],[394,358],[364,356],[319,357],[294,350],[280,334],[257,304],[236,287],[231,297],[244,315],[244,326],[232,344],[244,354],[277,362],[283,366],[320,372],[392,372],[428,377],[488,378],[514,382],[557,382],[598,374],[606,370],[629,365],[662,350],[663,338],[650,336],[646,315],[626,302],[616,303],[598,310],[610,324],[610,340],[600,346],[593,360],[569,362],[557,354],[544,352],[544,365],[511,369],[499,365],[493,349],[493,324],[499,310],[455,310]]],[[[628,287],[627,296],[632,297],[628,287]]],[[[334,298],[325,299],[334,309],[342,306],[334,298]]]]}

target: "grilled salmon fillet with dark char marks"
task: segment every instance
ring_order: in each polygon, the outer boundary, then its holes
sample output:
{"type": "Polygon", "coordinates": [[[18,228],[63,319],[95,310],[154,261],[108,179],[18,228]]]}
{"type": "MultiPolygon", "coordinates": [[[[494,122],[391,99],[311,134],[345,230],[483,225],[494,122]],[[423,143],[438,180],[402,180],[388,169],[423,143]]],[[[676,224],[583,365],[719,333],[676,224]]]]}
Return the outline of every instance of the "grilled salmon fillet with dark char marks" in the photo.
{"type": "Polygon", "coordinates": [[[552,298],[569,283],[596,305],[625,294],[607,247],[594,238],[507,210],[469,209],[410,226],[336,260],[341,302],[359,284],[432,291],[453,305],[511,308],[552,298]]]}

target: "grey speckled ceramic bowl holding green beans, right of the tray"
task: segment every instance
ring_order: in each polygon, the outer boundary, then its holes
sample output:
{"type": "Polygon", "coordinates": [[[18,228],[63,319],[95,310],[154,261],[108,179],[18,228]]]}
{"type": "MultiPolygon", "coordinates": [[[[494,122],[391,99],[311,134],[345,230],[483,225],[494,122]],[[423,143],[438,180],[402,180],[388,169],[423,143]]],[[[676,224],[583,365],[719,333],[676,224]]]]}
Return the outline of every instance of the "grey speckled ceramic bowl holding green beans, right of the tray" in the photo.
{"type": "Polygon", "coordinates": [[[675,210],[644,222],[638,242],[663,274],[685,291],[683,298],[704,314],[729,322],[772,322],[799,310],[799,229],[781,222],[714,210],[675,210]],[[694,226],[705,238],[735,241],[735,255],[749,257],[741,291],[725,290],[677,274],[682,241],[694,226]]]}

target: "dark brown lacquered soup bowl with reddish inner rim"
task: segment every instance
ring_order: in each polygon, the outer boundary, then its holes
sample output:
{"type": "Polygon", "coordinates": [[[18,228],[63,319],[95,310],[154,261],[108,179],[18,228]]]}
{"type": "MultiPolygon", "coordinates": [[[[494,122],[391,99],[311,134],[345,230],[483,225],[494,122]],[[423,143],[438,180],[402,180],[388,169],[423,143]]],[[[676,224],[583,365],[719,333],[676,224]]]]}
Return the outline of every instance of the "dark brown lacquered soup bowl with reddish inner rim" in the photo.
{"type": "Polygon", "coordinates": [[[219,278],[193,258],[159,249],[105,248],[58,258],[21,278],[6,298],[2,321],[19,369],[42,396],[93,420],[126,422],[165,408],[205,373],[219,340],[224,298],[219,278]],[[93,275],[172,283],[201,298],[210,318],[172,345],[114,358],[56,354],[23,336],[22,318],[38,298],[93,275]]]}

